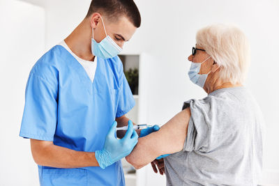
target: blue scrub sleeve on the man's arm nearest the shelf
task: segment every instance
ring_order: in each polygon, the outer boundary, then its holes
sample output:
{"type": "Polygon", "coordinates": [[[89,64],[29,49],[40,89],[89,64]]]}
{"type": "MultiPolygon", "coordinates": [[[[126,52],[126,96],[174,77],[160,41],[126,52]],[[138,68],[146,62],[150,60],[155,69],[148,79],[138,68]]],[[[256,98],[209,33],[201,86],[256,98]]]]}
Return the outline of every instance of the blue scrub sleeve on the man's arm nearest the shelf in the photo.
{"type": "Polygon", "coordinates": [[[130,90],[130,86],[123,72],[123,65],[119,59],[120,72],[120,88],[119,88],[119,102],[116,110],[116,118],[127,114],[130,109],[133,109],[135,106],[135,100],[133,98],[133,93],[130,90]]]}

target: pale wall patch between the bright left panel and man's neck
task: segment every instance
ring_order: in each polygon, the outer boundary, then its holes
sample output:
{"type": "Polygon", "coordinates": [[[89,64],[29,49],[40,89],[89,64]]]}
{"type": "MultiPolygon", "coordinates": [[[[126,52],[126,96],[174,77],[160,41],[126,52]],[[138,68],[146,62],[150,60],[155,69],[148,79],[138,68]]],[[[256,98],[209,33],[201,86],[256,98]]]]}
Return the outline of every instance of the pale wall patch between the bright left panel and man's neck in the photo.
{"type": "Polygon", "coordinates": [[[45,49],[65,39],[85,17],[91,0],[21,0],[45,9],[45,49]]]}

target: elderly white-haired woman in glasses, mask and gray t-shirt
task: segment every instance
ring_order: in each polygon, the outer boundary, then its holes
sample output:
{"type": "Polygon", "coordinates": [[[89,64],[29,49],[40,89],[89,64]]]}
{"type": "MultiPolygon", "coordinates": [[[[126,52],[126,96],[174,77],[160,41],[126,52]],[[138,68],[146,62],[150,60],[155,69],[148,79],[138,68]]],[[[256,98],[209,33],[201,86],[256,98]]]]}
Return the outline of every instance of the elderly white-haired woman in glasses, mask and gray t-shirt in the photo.
{"type": "Polygon", "coordinates": [[[164,158],[167,185],[257,185],[264,120],[243,86],[248,40],[236,27],[223,24],[199,30],[196,40],[188,75],[208,95],[184,102],[158,132],[140,138],[126,160],[140,169],[171,154],[164,158]]]}

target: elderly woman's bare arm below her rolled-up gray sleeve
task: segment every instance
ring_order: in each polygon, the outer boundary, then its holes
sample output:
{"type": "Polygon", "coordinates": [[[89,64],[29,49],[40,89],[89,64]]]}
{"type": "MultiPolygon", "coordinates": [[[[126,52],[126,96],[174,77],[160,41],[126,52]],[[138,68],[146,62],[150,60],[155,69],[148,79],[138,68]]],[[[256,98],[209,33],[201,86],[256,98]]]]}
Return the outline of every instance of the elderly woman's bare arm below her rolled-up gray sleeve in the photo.
{"type": "Polygon", "coordinates": [[[190,108],[187,108],[176,114],[158,132],[139,138],[137,146],[126,160],[140,169],[160,155],[179,152],[186,140],[189,119],[190,108]]]}

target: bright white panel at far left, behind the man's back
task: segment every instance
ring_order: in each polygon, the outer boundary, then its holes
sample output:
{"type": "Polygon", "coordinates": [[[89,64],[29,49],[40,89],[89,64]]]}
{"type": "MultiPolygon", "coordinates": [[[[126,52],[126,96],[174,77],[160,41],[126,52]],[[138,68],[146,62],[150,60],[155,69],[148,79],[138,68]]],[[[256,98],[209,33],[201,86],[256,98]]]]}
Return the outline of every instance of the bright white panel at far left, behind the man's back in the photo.
{"type": "Polygon", "coordinates": [[[38,185],[29,140],[19,134],[27,77],[45,47],[44,10],[0,0],[0,25],[0,185],[38,185]]]}

